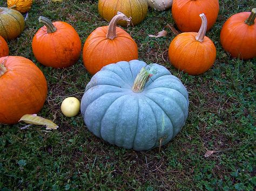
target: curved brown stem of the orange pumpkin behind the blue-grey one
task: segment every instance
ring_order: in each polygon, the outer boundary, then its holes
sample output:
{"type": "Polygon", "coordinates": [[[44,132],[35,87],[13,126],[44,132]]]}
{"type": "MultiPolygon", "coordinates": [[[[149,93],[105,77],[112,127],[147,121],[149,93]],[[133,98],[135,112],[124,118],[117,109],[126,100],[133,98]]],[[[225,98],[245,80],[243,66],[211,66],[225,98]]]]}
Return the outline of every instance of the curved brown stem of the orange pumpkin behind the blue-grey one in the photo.
{"type": "Polygon", "coordinates": [[[131,17],[128,18],[124,15],[124,13],[118,11],[117,15],[114,16],[109,23],[109,29],[107,30],[106,38],[113,40],[114,38],[117,37],[116,26],[117,26],[118,20],[126,20],[128,23],[130,23],[131,19],[132,19],[131,17]]]}

